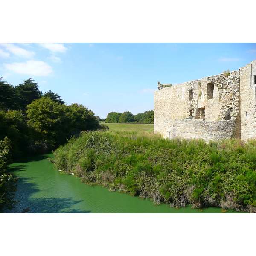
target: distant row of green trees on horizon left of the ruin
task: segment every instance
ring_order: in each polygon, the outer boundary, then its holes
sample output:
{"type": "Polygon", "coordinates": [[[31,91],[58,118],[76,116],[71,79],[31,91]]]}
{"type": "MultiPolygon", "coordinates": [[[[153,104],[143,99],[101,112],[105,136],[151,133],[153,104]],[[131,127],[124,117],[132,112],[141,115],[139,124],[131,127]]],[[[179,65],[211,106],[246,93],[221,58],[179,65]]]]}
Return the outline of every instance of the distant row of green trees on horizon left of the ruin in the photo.
{"type": "Polygon", "coordinates": [[[124,113],[110,112],[105,119],[106,123],[154,123],[154,111],[148,110],[144,113],[133,115],[130,111],[124,113]]]}

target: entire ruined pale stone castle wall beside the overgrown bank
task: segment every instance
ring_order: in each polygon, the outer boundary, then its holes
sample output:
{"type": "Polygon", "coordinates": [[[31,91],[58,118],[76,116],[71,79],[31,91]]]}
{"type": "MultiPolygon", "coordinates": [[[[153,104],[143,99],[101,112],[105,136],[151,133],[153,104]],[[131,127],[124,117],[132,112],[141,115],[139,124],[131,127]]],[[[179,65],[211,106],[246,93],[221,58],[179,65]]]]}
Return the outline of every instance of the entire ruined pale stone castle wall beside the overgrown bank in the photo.
{"type": "Polygon", "coordinates": [[[256,137],[256,60],[237,71],[154,92],[154,131],[164,138],[256,137]]]}

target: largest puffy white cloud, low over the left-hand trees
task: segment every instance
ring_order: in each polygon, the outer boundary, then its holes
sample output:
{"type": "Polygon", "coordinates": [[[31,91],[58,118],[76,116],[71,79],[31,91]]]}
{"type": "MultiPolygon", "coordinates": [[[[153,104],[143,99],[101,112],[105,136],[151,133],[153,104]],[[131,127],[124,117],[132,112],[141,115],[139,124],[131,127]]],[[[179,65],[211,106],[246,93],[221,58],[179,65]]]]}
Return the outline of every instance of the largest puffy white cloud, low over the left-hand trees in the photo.
{"type": "Polygon", "coordinates": [[[52,67],[43,61],[26,61],[12,64],[3,64],[6,69],[19,74],[29,74],[32,76],[49,76],[52,73],[52,67]]]}

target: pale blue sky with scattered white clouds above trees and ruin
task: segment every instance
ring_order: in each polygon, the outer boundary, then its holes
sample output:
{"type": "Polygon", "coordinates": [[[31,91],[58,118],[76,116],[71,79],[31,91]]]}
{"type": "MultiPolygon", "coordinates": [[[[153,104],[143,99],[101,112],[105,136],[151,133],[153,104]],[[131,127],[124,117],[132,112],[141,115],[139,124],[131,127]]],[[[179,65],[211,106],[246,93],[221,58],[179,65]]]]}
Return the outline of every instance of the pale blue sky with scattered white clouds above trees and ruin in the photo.
{"type": "Polygon", "coordinates": [[[32,78],[100,118],[154,109],[157,82],[180,84],[256,59],[256,43],[0,43],[0,77],[32,78]]]}

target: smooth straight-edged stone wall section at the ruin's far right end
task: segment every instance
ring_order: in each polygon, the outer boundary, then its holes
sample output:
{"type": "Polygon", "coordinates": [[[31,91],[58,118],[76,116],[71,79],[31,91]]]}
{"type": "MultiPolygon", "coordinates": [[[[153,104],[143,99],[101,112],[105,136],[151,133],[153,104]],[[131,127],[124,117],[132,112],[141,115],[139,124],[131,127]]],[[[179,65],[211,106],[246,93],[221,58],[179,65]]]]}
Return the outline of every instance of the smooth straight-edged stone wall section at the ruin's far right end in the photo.
{"type": "Polygon", "coordinates": [[[256,137],[256,60],[239,69],[241,139],[256,137]]]}

